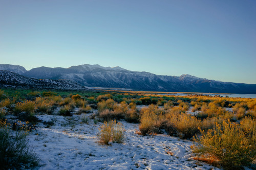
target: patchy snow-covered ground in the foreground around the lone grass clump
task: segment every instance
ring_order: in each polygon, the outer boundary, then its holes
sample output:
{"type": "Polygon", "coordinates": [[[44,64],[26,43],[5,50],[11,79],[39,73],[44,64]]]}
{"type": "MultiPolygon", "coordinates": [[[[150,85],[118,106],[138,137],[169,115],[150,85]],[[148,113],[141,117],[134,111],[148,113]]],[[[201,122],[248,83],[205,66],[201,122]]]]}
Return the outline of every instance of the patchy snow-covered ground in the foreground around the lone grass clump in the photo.
{"type": "MultiPolygon", "coordinates": [[[[92,114],[92,113],[91,113],[92,114]]],[[[39,169],[219,169],[191,159],[190,140],[167,134],[141,136],[138,124],[120,121],[125,128],[124,143],[103,145],[97,133],[102,123],[81,123],[82,116],[39,115],[54,125],[39,123],[28,138],[40,157],[39,169]]]]}

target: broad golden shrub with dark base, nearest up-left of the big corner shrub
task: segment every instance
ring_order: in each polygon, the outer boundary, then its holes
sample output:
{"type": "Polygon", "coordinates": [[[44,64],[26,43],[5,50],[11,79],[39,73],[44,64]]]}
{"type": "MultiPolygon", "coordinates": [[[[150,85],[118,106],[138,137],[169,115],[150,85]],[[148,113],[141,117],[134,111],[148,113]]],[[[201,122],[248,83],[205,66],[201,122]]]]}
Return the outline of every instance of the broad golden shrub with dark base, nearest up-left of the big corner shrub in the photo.
{"type": "Polygon", "coordinates": [[[199,130],[200,120],[186,113],[169,114],[165,130],[169,135],[179,136],[182,139],[193,137],[199,130]]]}

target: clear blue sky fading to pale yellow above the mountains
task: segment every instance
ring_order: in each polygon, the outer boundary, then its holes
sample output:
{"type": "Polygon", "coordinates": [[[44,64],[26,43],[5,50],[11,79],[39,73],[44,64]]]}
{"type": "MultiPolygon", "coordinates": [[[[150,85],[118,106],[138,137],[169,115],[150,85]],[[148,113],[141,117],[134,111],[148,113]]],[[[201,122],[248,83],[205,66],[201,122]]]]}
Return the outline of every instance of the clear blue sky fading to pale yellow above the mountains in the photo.
{"type": "Polygon", "coordinates": [[[256,84],[256,1],[0,0],[0,64],[256,84]]]}

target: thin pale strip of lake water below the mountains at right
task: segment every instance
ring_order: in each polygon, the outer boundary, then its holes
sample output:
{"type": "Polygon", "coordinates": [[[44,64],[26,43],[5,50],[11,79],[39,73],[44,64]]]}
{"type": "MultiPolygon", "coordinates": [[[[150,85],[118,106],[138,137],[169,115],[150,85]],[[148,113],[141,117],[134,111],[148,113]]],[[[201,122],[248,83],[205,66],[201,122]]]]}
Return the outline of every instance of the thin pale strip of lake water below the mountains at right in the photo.
{"type": "MultiPolygon", "coordinates": [[[[202,93],[158,93],[159,95],[181,95],[185,96],[187,94],[202,94],[202,93]]],[[[225,97],[226,95],[229,96],[229,98],[256,98],[256,94],[219,94],[219,93],[203,93],[204,95],[220,95],[225,97]]]]}

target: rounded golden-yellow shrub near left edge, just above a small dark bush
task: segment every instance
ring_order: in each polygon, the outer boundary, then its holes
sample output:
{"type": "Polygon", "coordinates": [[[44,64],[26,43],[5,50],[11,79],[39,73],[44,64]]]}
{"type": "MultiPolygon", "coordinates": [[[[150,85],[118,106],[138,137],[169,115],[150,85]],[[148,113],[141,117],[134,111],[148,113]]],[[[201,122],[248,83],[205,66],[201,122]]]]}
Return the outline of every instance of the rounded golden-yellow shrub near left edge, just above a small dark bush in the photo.
{"type": "Polygon", "coordinates": [[[33,113],[35,111],[35,102],[32,101],[25,101],[25,102],[18,102],[14,107],[14,113],[20,112],[28,112],[33,113]]]}

